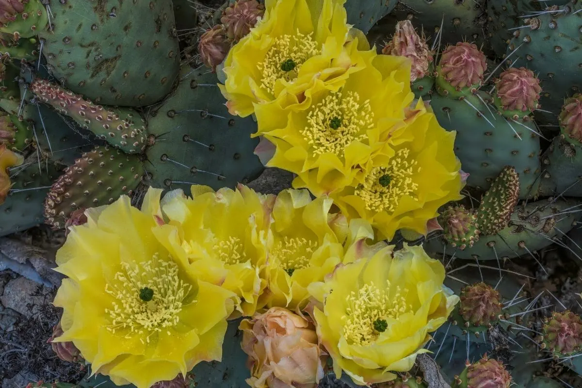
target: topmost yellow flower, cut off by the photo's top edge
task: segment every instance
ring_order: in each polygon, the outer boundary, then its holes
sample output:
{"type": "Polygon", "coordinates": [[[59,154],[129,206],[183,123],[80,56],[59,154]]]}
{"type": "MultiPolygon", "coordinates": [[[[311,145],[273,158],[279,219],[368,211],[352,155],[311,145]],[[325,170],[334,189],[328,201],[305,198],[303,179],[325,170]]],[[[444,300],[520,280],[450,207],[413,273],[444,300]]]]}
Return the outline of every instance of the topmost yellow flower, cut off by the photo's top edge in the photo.
{"type": "Polygon", "coordinates": [[[262,20],[224,62],[226,81],[219,88],[229,112],[246,117],[254,104],[272,101],[306,105],[303,100],[315,84],[338,90],[361,69],[358,43],[350,39],[357,32],[349,34],[345,1],[265,1],[262,20]]]}

